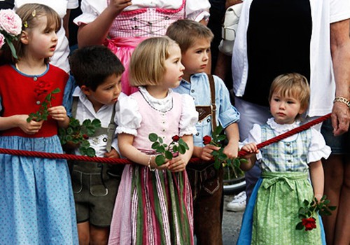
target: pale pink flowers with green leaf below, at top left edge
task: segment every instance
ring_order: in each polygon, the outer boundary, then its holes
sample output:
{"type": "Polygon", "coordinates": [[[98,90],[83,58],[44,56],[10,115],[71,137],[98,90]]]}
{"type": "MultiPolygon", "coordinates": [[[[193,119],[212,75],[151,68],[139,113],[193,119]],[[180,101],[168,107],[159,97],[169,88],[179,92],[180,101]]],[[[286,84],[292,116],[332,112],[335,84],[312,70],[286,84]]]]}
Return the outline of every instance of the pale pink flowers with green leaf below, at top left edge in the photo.
{"type": "Polygon", "coordinates": [[[18,59],[13,46],[13,41],[18,40],[22,32],[22,20],[15,11],[10,9],[0,10],[0,49],[6,43],[11,50],[13,57],[18,59]]]}

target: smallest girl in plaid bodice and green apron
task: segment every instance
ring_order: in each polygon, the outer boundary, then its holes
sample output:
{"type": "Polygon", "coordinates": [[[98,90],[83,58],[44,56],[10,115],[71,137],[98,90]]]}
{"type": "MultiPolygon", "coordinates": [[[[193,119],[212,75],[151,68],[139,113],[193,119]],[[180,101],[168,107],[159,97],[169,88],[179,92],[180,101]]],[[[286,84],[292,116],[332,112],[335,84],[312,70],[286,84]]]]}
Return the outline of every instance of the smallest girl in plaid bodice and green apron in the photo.
{"type": "Polygon", "coordinates": [[[298,73],[275,78],[269,104],[273,118],[265,125],[254,125],[242,148],[249,154],[241,169],[260,162],[261,179],[248,202],[237,244],[324,244],[321,219],[316,228],[296,230],[298,211],[304,200],[321,200],[323,167],[321,158],[328,158],[330,148],[320,132],[313,128],[294,134],[258,151],[256,144],[300,126],[300,116],[307,109],[309,85],[298,73]],[[308,176],[310,178],[308,178],[308,176]]]}

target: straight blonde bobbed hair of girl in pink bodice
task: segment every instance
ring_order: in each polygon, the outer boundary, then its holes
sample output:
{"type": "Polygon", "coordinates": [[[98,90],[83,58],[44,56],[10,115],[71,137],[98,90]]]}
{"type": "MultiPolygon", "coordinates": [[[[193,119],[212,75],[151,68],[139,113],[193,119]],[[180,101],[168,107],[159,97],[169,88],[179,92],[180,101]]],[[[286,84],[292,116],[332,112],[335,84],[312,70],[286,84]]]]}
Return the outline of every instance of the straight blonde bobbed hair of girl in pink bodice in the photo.
{"type": "Polygon", "coordinates": [[[171,45],[178,44],[167,36],[148,38],[137,45],[130,59],[130,85],[159,85],[171,45]]]}

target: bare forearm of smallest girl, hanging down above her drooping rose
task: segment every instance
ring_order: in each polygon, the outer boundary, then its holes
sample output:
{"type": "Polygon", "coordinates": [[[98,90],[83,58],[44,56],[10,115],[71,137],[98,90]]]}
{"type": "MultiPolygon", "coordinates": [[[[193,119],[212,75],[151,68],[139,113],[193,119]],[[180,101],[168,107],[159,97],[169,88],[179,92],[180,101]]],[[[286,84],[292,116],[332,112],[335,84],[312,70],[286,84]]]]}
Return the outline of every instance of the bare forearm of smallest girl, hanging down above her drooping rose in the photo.
{"type": "Polygon", "coordinates": [[[321,197],[323,197],[324,188],[324,173],[321,160],[310,162],[309,171],[312,187],[314,188],[314,196],[317,200],[321,200],[321,197]]]}

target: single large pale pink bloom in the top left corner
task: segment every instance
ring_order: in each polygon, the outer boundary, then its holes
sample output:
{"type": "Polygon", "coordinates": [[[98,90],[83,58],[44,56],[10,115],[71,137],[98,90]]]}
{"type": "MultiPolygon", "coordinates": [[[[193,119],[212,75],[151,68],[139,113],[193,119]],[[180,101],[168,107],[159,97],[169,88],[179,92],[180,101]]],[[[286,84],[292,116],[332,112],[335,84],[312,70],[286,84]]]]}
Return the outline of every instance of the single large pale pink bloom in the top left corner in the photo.
{"type": "Polygon", "coordinates": [[[22,20],[20,16],[11,9],[1,9],[0,30],[2,33],[5,31],[10,36],[20,35],[22,32],[22,20]]]}

